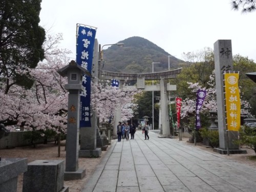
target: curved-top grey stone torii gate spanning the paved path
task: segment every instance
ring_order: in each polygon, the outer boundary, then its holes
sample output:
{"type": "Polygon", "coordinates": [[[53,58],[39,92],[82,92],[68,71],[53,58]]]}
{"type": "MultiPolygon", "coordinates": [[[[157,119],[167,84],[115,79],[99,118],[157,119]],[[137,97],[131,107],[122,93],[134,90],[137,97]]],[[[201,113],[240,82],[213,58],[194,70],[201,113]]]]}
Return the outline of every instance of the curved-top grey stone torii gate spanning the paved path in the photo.
{"type": "MultiPolygon", "coordinates": [[[[155,73],[117,73],[100,70],[100,78],[117,79],[120,82],[125,80],[137,80],[137,86],[122,86],[122,83],[120,83],[121,89],[127,91],[133,91],[137,89],[142,91],[160,91],[160,110],[162,114],[160,118],[162,122],[162,137],[170,137],[167,91],[176,91],[176,85],[167,84],[166,79],[177,78],[177,75],[181,72],[181,69],[182,68],[155,73]],[[160,84],[146,86],[145,80],[160,80],[160,84]]],[[[117,111],[119,112],[115,113],[113,135],[116,135],[117,125],[121,119],[120,109],[117,111]]]]}

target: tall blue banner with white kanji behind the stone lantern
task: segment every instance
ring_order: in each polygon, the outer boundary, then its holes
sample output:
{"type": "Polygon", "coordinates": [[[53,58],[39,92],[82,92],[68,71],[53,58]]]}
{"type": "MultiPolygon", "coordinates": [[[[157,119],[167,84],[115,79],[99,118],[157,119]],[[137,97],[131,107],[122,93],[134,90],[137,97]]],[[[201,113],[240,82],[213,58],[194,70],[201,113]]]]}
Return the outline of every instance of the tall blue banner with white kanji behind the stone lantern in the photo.
{"type": "MultiPolygon", "coordinates": [[[[96,29],[78,25],[76,44],[76,62],[92,72],[93,47],[96,29]]],[[[80,127],[91,126],[91,77],[83,75],[83,90],[80,94],[80,127]]]]}

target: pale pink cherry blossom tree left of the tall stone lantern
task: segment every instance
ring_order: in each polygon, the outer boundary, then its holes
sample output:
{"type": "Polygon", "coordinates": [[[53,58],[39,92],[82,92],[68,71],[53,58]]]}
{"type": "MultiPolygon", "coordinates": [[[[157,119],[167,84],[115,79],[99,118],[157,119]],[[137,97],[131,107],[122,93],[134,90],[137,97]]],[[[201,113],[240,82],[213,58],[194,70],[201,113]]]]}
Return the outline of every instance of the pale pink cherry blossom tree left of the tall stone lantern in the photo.
{"type": "Polygon", "coordinates": [[[44,43],[45,60],[34,69],[17,69],[21,75],[30,75],[34,82],[31,89],[13,84],[6,94],[4,85],[0,85],[0,122],[27,130],[66,129],[67,92],[63,89],[66,79],[57,70],[67,65],[69,58],[65,55],[70,51],[56,47],[60,40],[61,34],[49,35],[44,43]]]}

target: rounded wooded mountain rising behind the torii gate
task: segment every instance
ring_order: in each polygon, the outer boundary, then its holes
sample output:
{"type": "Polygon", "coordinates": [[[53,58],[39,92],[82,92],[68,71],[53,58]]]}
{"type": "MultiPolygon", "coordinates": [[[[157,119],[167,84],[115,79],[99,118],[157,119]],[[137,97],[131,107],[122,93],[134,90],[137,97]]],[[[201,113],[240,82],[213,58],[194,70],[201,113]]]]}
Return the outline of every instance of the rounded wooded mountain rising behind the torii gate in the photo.
{"type": "MultiPolygon", "coordinates": [[[[142,37],[130,37],[121,40],[123,47],[111,46],[103,50],[103,70],[122,73],[150,73],[152,62],[154,72],[168,71],[168,55],[166,51],[153,42],[142,37]]],[[[170,69],[179,68],[184,61],[169,57],[170,69]]]]}

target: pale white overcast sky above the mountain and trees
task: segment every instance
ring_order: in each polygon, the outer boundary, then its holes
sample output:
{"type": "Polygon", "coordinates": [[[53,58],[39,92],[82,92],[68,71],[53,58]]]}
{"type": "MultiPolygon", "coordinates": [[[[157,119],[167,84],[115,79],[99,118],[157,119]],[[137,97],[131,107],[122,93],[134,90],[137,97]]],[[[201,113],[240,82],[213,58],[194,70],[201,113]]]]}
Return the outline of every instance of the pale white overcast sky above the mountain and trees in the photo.
{"type": "Polygon", "coordinates": [[[256,61],[256,11],[231,10],[230,0],[42,0],[40,26],[63,34],[62,48],[76,52],[76,24],[97,28],[101,46],[132,36],[152,41],[171,55],[214,48],[231,39],[233,55],[256,61]]]}

